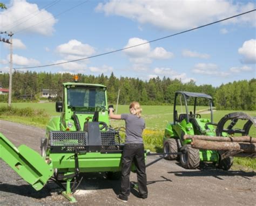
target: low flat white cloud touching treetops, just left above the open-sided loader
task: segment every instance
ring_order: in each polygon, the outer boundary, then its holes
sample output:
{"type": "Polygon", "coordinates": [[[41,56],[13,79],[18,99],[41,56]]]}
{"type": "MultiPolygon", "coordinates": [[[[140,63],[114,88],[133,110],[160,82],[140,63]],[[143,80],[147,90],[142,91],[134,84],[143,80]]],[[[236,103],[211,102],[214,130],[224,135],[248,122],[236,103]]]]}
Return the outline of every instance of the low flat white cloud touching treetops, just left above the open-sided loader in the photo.
{"type": "Polygon", "coordinates": [[[191,80],[196,81],[194,78],[187,77],[186,73],[178,73],[176,70],[171,69],[171,68],[155,68],[154,69],[154,74],[148,75],[148,78],[156,78],[157,76],[159,77],[169,77],[170,79],[178,79],[181,80],[181,82],[186,83],[190,82],[191,80]]]}

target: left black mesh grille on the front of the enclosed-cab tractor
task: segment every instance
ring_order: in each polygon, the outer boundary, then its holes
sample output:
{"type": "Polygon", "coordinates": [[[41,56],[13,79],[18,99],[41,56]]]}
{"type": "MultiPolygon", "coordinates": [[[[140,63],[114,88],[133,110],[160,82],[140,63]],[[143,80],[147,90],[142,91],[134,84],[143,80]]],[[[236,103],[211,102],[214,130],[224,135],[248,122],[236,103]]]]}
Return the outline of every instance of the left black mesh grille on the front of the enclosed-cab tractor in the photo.
{"type": "Polygon", "coordinates": [[[51,146],[85,146],[86,132],[51,132],[51,146]]]}

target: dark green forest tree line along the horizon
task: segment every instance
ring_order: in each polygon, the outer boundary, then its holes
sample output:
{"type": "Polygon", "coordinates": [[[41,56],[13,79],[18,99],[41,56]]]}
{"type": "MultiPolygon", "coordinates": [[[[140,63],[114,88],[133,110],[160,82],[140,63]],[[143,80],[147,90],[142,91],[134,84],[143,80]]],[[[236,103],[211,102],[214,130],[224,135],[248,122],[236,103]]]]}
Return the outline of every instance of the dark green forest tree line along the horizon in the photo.
{"type": "MultiPolygon", "coordinates": [[[[116,77],[113,73],[110,76],[104,74],[85,75],[78,74],[79,82],[104,84],[107,87],[107,98],[109,103],[116,103],[118,90],[120,90],[119,103],[129,104],[138,101],[143,105],[172,105],[175,91],[191,91],[211,95],[214,105],[220,110],[256,110],[256,79],[250,81],[234,81],[221,84],[220,87],[213,87],[211,84],[197,86],[191,80],[182,83],[178,79],[169,77],[152,78],[143,81],[133,77],[116,77]]],[[[36,73],[36,72],[14,72],[12,75],[12,97],[19,100],[22,95],[39,97],[42,89],[54,90],[58,97],[62,96],[62,83],[72,82],[73,75],[70,73],[36,73]]],[[[9,87],[9,74],[0,74],[0,85],[3,88],[9,87]]],[[[0,95],[0,101],[6,101],[4,95],[0,95]]],[[[6,95],[5,95],[6,96],[6,95]]],[[[199,102],[205,105],[204,101],[199,102]]]]}

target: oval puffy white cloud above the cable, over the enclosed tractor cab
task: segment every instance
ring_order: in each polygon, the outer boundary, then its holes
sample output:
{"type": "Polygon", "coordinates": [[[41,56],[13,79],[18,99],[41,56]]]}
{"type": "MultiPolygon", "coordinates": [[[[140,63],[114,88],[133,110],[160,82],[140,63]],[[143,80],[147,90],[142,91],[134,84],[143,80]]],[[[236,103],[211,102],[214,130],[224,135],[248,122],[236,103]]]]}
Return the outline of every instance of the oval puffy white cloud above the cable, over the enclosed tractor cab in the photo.
{"type": "Polygon", "coordinates": [[[56,51],[65,56],[65,59],[74,60],[78,58],[85,58],[95,54],[95,48],[88,44],[82,44],[82,42],[72,39],[68,43],[57,46],[56,51]]]}

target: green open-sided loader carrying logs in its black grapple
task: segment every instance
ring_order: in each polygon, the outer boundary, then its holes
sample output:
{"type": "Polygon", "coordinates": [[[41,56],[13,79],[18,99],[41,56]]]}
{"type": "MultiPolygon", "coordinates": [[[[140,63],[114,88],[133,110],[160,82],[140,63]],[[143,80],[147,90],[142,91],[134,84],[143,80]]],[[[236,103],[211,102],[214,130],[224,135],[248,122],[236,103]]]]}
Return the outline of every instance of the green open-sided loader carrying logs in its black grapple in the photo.
{"type": "Polygon", "coordinates": [[[186,169],[195,169],[199,166],[200,161],[204,161],[213,162],[218,168],[228,170],[233,164],[234,156],[255,156],[253,155],[255,151],[251,149],[255,138],[248,137],[250,127],[255,120],[245,113],[235,112],[225,115],[218,124],[214,123],[212,105],[213,102],[210,95],[176,91],[173,106],[173,123],[169,123],[166,126],[163,146],[164,153],[181,152],[181,154],[166,155],[165,159],[177,160],[186,169]],[[178,100],[180,100],[181,104],[179,113],[177,111],[179,108],[177,105],[178,100]],[[198,102],[204,104],[208,102],[210,108],[207,112],[210,111],[211,113],[210,119],[202,118],[198,113],[198,102]],[[188,106],[188,104],[193,104],[193,107],[188,106]],[[238,120],[246,120],[242,129],[233,128],[238,123],[238,120]],[[247,141],[248,145],[246,147],[248,148],[241,148],[247,144],[241,142],[234,148],[234,144],[228,142],[238,141],[237,138],[233,138],[234,134],[242,134],[244,139],[239,140],[247,141]],[[196,145],[196,138],[200,138],[199,143],[203,142],[204,145],[196,145]],[[245,140],[246,138],[249,140],[245,140]],[[205,142],[205,140],[209,139],[211,141],[205,142]],[[221,142],[219,140],[225,143],[223,144],[224,146],[220,145],[221,142]]]}

